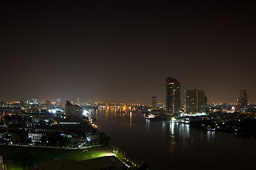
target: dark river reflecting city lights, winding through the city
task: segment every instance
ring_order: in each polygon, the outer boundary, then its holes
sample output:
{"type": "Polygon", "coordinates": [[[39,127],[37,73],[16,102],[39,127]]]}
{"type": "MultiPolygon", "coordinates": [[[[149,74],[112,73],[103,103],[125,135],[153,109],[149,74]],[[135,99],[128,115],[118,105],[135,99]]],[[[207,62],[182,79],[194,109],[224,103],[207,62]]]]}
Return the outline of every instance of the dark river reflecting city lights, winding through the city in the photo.
{"type": "Polygon", "coordinates": [[[207,132],[181,123],[146,120],[118,108],[92,111],[99,130],[135,162],[151,169],[254,169],[255,138],[207,132]]]}

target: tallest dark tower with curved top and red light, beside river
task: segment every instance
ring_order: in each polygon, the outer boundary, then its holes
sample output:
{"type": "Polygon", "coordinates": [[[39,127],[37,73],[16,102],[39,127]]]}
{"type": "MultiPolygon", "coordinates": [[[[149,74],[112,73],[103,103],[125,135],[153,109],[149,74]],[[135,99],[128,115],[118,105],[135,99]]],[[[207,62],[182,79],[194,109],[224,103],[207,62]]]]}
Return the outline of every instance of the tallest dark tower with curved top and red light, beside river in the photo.
{"type": "Polygon", "coordinates": [[[167,77],[166,79],[166,111],[169,114],[178,113],[181,109],[181,82],[167,77]]]}

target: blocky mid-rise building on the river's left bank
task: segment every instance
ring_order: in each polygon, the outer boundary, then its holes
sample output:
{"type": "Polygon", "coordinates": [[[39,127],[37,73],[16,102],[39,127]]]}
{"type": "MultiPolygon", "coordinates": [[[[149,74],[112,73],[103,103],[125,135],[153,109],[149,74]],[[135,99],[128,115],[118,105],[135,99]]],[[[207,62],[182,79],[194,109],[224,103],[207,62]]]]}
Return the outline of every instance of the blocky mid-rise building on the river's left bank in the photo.
{"type": "Polygon", "coordinates": [[[82,119],[82,108],[67,101],[65,103],[65,118],[82,119]]]}

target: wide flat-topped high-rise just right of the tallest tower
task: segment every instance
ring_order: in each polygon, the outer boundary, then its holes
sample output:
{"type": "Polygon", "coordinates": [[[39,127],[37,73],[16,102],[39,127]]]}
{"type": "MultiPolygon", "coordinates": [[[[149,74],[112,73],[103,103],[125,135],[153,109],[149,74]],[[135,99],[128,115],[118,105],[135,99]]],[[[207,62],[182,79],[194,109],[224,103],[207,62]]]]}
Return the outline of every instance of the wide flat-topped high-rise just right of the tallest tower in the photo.
{"type": "Polygon", "coordinates": [[[206,113],[207,98],[203,90],[185,91],[185,113],[206,113]]]}

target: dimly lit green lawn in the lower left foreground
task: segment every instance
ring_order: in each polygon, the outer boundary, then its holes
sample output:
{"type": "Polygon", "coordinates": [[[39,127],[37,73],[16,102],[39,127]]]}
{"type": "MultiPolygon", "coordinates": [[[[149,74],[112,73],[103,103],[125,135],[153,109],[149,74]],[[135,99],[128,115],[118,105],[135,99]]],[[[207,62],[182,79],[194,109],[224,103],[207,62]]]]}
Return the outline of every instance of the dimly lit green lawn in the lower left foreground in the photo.
{"type": "Polygon", "coordinates": [[[112,155],[104,147],[91,147],[89,149],[48,149],[41,147],[10,147],[0,146],[4,164],[8,170],[33,169],[39,162],[53,159],[70,158],[76,161],[112,155]]]}

